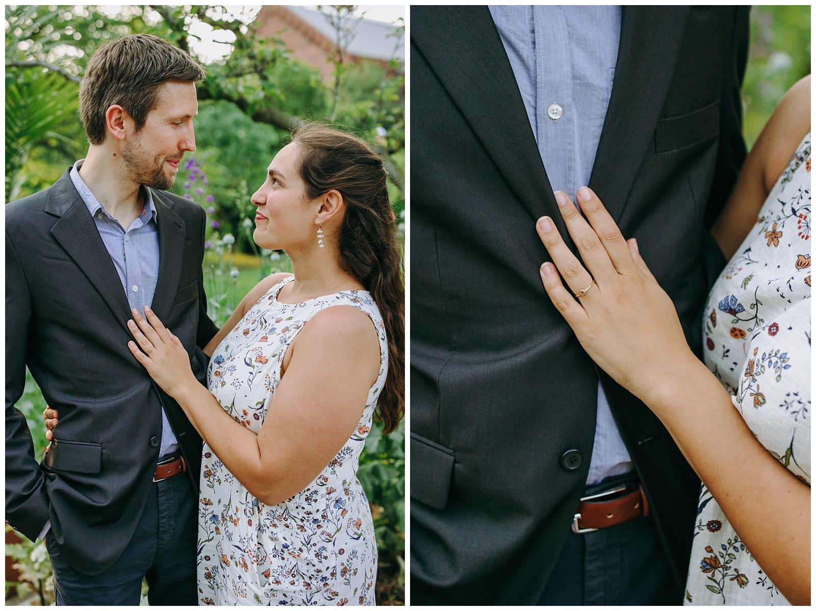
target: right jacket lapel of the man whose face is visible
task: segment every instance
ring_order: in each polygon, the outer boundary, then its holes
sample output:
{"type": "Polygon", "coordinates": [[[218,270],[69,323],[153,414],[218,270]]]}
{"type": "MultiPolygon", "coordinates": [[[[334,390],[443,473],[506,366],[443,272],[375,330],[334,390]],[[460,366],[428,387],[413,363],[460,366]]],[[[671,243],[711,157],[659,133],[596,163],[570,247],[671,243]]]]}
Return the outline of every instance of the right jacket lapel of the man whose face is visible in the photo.
{"type": "Polygon", "coordinates": [[[160,321],[166,321],[179,290],[181,262],[184,258],[184,221],[171,210],[173,203],[151,189],[158,227],[158,281],[150,308],[160,321]]]}

